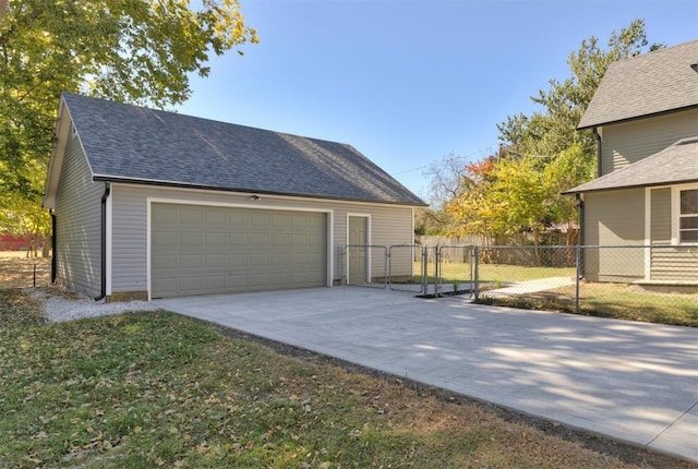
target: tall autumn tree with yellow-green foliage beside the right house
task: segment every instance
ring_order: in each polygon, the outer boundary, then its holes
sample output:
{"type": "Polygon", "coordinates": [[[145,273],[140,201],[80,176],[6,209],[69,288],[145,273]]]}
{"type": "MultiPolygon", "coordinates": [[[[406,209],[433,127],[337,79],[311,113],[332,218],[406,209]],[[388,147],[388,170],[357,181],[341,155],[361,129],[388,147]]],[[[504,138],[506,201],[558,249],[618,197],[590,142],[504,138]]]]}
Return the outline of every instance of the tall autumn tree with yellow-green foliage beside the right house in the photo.
{"type": "Polygon", "coordinates": [[[461,192],[448,204],[457,231],[484,238],[532,239],[553,224],[567,225],[567,243],[576,241],[576,201],[561,192],[593,178],[595,144],[591,132],[577,127],[610,63],[662,45],[648,46],[645,22],[635,20],[619,34],[613,32],[607,49],[591,37],[568,58],[571,76],[551,80],[547,91],[531,99],[543,110],[519,113],[497,125],[506,142],[496,161],[468,167],[461,192]]]}

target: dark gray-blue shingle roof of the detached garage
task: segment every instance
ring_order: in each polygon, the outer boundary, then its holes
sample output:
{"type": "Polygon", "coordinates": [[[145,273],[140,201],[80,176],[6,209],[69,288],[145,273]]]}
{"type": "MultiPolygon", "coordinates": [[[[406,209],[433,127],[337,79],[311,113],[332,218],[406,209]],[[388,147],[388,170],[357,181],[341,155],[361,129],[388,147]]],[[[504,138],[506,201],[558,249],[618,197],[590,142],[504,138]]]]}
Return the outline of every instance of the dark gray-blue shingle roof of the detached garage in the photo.
{"type": "Polygon", "coordinates": [[[95,180],[424,205],[350,145],[63,98],[95,180]]]}

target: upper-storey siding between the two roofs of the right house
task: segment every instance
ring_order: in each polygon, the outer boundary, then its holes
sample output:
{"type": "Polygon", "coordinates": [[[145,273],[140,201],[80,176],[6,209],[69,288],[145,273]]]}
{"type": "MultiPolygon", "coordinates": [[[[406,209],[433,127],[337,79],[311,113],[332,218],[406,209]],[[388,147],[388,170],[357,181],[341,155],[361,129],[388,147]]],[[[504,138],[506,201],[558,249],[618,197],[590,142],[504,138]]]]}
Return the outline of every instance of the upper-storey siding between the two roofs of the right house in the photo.
{"type": "Polygon", "coordinates": [[[698,109],[604,125],[602,175],[647,158],[698,132],[698,109]]]}

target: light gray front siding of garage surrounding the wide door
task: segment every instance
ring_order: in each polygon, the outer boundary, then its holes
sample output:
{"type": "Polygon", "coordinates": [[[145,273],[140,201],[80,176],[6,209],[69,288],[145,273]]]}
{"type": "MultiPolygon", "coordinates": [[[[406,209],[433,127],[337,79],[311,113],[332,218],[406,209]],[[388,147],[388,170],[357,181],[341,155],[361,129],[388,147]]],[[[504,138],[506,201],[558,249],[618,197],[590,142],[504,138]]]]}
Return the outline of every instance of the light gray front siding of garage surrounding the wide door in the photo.
{"type": "MultiPolygon", "coordinates": [[[[111,292],[147,290],[147,200],[148,197],[181,201],[182,203],[221,203],[250,208],[318,209],[332,212],[330,236],[334,280],[342,277],[341,250],[347,244],[347,214],[371,216],[372,244],[411,244],[412,207],[261,195],[252,202],[250,194],[217,191],[154,188],[146,185],[112,184],[111,190],[111,292]]],[[[411,274],[411,263],[405,265],[406,275],[411,274]]],[[[382,265],[372,265],[372,275],[378,275],[382,265]]]]}

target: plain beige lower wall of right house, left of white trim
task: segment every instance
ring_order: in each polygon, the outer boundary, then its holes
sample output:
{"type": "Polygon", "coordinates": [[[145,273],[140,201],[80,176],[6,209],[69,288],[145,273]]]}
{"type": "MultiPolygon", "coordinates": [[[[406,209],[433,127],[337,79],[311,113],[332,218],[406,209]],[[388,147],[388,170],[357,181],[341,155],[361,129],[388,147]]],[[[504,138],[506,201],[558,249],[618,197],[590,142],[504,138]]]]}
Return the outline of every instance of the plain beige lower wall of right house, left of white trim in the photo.
{"type": "Polygon", "coordinates": [[[585,195],[585,276],[591,281],[645,278],[645,250],[609,248],[645,244],[645,190],[585,195]]]}

